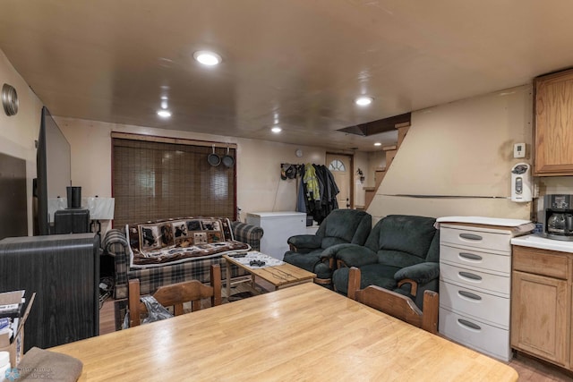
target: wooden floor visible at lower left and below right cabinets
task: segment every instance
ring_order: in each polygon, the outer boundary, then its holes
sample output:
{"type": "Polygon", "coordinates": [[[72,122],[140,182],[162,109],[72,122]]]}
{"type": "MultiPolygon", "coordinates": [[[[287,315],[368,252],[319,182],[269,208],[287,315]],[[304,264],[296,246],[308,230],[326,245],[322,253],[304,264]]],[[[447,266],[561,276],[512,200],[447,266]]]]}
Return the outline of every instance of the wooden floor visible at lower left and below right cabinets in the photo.
{"type": "MultiPolygon", "coordinates": [[[[226,303],[227,299],[223,299],[226,303]]],[[[114,301],[107,300],[99,310],[99,335],[105,335],[115,330],[114,301]]],[[[519,374],[518,382],[550,382],[569,381],[573,382],[573,373],[565,369],[560,369],[552,364],[537,361],[517,353],[513,360],[509,361],[509,366],[517,370],[519,374]]]]}

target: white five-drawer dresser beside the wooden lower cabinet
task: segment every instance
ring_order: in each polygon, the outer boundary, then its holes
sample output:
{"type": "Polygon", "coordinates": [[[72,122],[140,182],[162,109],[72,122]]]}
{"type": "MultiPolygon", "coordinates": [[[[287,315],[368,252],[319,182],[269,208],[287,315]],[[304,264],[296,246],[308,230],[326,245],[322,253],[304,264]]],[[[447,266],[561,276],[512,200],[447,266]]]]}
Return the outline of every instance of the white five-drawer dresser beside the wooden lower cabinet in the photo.
{"type": "Polygon", "coordinates": [[[440,334],[503,361],[511,359],[511,238],[524,220],[449,217],[440,223],[440,334]],[[459,220],[459,221],[456,221],[459,220]]]}

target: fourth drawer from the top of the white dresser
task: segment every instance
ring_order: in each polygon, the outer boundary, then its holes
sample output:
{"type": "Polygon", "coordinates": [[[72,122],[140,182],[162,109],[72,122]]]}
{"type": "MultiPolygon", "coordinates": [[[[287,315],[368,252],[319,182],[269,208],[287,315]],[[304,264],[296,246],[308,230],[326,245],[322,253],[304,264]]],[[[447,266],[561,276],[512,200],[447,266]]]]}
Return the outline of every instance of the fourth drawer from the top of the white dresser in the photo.
{"type": "Polygon", "coordinates": [[[509,330],[509,297],[440,281],[440,306],[509,330]]]}

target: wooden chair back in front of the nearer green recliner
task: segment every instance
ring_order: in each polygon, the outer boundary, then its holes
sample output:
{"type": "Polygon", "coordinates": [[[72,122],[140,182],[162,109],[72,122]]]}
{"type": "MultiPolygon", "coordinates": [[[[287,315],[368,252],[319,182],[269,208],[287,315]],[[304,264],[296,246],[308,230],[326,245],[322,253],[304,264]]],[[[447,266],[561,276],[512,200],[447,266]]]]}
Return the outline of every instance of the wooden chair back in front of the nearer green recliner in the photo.
{"type": "Polygon", "coordinates": [[[421,327],[434,335],[438,333],[440,300],[438,293],[433,291],[423,293],[422,311],[408,297],[380,286],[369,285],[360,289],[360,269],[351,267],[348,275],[348,298],[406,321],[415,327],[421,327]]]}

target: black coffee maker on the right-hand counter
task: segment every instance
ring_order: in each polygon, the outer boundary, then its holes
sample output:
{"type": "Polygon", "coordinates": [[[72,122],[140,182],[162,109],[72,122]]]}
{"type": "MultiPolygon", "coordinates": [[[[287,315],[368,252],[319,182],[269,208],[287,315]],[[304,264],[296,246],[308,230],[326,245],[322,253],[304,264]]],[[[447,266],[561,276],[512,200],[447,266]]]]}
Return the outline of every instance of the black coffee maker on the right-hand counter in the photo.
{"type": "Polygon", "coordinates": [[[544,233],[550,239],[573,242],[573,195],[545,195],[544,233]]]}

